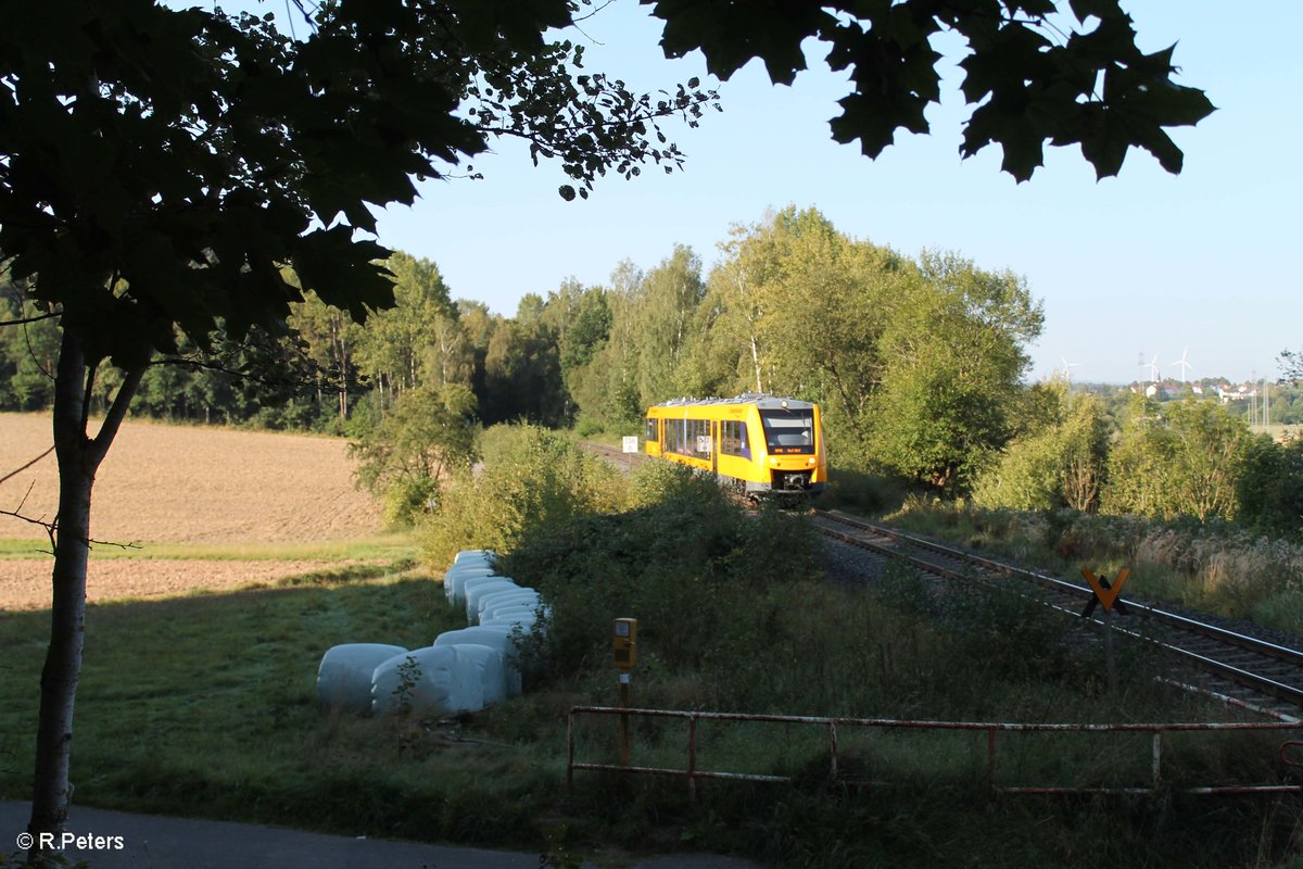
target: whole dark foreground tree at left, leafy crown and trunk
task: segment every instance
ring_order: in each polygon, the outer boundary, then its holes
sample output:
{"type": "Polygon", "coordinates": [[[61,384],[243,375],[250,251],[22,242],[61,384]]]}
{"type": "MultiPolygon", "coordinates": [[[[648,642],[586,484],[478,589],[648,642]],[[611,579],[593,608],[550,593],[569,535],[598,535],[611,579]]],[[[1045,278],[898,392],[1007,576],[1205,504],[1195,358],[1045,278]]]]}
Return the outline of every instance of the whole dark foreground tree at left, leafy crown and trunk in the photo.
{"type": "Polygon", "coordinates": [[[149,0],[50,0],[9,16],[0,266],[61,327],[31,833],[68,814],[91,486],[151,357],[175,353],[179,332],[207,348],[215,334],[283,331],[305,289],[356,321],[392,305],[388,251],[356,235],[374,232],[370,206],[410,203],[417,178],[456,171],[494,135],[529,141],[585,194],[607,171],[681,159],[657,124],[694,122],[709,95],[638,96],[572,74],[582,50],[545,36],[571,14],[566,0],[327,3],[304,39],[270,18],[149,0]],[[108,365],[121,386],[90,436],[108,365]]]}

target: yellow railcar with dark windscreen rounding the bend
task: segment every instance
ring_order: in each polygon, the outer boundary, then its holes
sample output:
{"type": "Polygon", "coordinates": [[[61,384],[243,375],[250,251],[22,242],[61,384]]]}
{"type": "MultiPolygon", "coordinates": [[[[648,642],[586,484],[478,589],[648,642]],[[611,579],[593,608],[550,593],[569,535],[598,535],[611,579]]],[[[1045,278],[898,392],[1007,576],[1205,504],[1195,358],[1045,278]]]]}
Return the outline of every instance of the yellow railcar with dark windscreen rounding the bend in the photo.
{"type": "Polygon", "coordinates": [[[648,408],[646,453],[709,472],[748,496],[816,495],[827,486],[818,405],[745,393],[648,408]]]}

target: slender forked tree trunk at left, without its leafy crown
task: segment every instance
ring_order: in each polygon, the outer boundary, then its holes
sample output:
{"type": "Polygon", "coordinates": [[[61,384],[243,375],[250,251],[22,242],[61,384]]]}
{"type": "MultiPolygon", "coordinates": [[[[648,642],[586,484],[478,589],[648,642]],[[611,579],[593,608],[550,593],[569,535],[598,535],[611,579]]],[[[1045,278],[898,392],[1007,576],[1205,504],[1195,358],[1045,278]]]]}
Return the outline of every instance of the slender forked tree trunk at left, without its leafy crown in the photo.
{"type": "Polygon", "coordinates": [[[87,395],[95,366],[87,367],[77,341],[65,332],[55,377],[55,455],[59,460],[59,513],[51,530],[55,569],[50,649],[40,672],[40,713],[27,831],[36,836],[29,851],[35,861],[42,833],[59,834],[68,821],[68,780],[73,739],[73,704],[81,677],[86,636],[86,565],[90,556],[90,496],[95,472],[117,434],[143,369],[129,371],[95,439],[86,436],[87,395]]]}

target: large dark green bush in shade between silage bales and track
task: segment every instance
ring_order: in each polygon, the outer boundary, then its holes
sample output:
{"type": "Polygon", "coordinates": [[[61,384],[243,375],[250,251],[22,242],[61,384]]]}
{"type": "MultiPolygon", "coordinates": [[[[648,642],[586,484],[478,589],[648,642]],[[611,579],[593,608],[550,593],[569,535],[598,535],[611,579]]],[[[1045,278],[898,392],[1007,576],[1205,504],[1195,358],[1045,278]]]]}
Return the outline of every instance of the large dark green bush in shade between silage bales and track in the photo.
{"type": "Polygon", "coordinates": [[[536,677],[609,666],[616,618],[638,619],[640,655],[652,667],[719,670],[728,650],[766,641],[757,614],[765,621],[773,607],[757,601],[818,571],[809,530],[777,507],[748,516],[713,481],[661,463],[644,465],[633,489],[633,508],[576,516],[507,558],[506,569],[551,607],[538,634],[546,640],[528,655],[536,677]]]}

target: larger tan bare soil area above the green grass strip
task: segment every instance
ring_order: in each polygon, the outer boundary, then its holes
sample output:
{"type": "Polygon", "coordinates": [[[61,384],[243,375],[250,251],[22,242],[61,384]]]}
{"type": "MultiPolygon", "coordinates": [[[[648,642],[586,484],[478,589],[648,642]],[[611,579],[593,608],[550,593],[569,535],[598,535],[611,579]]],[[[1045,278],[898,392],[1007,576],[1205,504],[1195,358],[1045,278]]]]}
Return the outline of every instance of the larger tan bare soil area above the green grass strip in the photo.
{"type": "MultiPolygon", "coordinates": [[[[47,414],[0,413],[0,477],[52,446],[47,414]]],[[[91,537],[254,543],[375,534],[379,504],[353,489],[348,442],[313,435],[126,421],[95,478],[91,537]]],[[[53,453],[0,483],[0,508],[50,519],[53,453]]],[[[44,532],[0,516],[0,538],[44,532]]]]}

